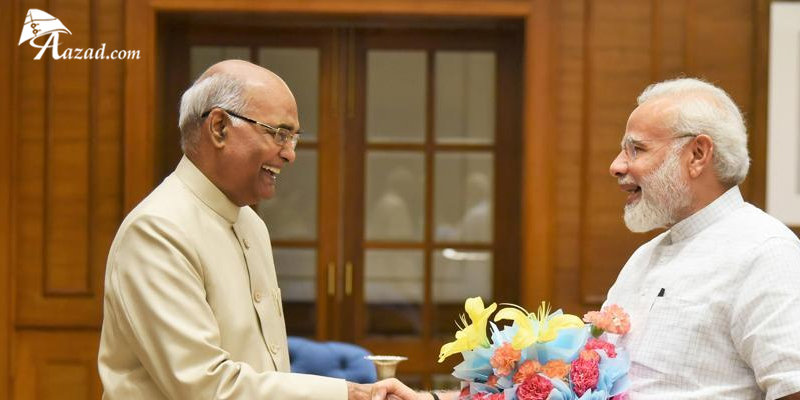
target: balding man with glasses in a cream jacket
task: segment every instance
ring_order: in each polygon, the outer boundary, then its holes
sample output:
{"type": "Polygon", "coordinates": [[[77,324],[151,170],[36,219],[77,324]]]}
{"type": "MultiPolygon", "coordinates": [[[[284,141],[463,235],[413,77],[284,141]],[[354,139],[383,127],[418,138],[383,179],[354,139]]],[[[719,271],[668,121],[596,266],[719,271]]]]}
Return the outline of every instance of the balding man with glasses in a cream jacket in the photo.
{"type": "MultiPolygon", "coordinates": [[[[289,373],[269,234],[248,207],[295,159],[297,105],[244,61],[181,99],[184,157],[122,222],[98,357],[105,399],[364,399],[405,390],[289,373]]],[[[401,393],[402,394],[402,393],[401,393]]]]}

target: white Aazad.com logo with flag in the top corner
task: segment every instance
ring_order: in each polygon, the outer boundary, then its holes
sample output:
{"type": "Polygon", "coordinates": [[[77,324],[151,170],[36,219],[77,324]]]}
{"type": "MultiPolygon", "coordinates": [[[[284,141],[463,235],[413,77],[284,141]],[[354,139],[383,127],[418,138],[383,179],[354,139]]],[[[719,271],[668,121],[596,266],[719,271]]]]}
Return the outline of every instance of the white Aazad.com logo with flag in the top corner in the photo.
{"type": "Polygon", "coordinates": [[[77,49],[66,48],[64,52],[59,53],[58,46],[62,43],[59,41],[59,35],[65,33],[72,35],[72,32],[56,17],[35,8],[28,10],[25,16],[25,23],[22,25],[22,33],[19,35],[19,43],[28,42],[31,47],[39,50],[34,60],[41,60],[47,49],[53,50],[53,59],[68,59],[68,60],[138,60],[139,50],[114,50],[106,54],[106,44],[103,43],[99,49],[77,49]],[[37,39],[47,37],[44,44],[37,43],[37,39]]]}

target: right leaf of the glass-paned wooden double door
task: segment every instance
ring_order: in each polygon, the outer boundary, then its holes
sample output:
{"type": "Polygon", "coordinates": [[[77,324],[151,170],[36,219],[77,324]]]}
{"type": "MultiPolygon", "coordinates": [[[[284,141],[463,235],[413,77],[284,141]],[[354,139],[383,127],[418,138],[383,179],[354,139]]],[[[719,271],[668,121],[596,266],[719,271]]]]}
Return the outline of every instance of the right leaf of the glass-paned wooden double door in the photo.
{"type": "Polygon", "coordinates": [[[341,337],[409,357],[412,386],[452,384],[467,297],[519,302],[517,33],[350,32],[341,337]]]}

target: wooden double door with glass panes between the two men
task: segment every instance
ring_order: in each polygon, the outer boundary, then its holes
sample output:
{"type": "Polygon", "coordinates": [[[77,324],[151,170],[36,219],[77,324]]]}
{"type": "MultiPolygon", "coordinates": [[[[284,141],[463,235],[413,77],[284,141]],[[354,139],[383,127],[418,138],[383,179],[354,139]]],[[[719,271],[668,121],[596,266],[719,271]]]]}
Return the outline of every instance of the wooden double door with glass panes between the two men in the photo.
{"type": "MultiPolygon", "coordinates": [[[[287,332],[400,352],[405,378],[431,386],[452,367],[435,359],[467,297],[519,300],[520,175],[506,172],[520,165],[519,29],[264,31],[237,21],[213,35],[197,21],[162,21],[164,54],[186,60],[163,64],[163,98],[176,103],[225,58],[292,88],[307,133],[275,198],[255,206],[287,332]]],[[[180,157],[176,119],[161,127],[159,142],[175,149],[161,150],[162,175],[180,157]]]]}

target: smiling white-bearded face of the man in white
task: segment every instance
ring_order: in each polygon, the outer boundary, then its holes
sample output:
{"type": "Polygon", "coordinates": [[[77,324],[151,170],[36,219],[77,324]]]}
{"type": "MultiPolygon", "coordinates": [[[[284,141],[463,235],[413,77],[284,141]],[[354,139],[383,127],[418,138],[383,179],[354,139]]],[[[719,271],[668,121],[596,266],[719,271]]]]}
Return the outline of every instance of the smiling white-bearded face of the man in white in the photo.
{"type": "Polygon", "coordinates": [[[665,128],[665,101],[647,102],[628,119],[623,150],[611,163],[610,173],[628,192],[625,225],[633,232],[668,227],[682,219],[692,196],[681,165],[683,145],[665,128]],[[636,157],[630,151],[633,149],[636,157]]]}

